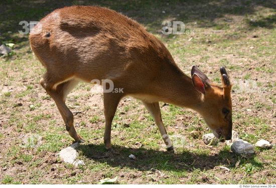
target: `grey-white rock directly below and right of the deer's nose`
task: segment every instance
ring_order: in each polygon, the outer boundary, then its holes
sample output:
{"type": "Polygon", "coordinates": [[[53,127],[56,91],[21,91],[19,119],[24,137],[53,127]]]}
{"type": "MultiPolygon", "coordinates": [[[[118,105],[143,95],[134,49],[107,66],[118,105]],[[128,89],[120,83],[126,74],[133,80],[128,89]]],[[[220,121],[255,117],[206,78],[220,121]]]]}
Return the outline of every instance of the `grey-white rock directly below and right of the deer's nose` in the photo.
{"type": "Polygon", "coordinates": [[[236,140],[231,145],[231,150],[237,154],[254,153],[254,146],[244,140],[236,140]]]}

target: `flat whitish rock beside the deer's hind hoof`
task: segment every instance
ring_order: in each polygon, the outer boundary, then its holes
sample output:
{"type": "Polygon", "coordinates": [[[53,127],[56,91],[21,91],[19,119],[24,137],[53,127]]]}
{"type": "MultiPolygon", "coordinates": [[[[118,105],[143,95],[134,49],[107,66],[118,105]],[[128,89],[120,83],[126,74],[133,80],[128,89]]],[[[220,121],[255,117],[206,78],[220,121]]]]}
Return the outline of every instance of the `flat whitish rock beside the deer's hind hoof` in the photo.
{"type": "Polygon", "coordinates": [[[78,153],[76,151],[77,147],[79,147],[79,143],[78,142],[70,145],[69,147],[67,147],[65,149],[62,149],[59,152],[60,158],[64,162],[68,162],[68,163],[73,164],[75,166],[78,166],[79,164],[84,165],[85,163],[82,160],[79,160],[77,158],[77,156],[78,156],[78,153]]]}

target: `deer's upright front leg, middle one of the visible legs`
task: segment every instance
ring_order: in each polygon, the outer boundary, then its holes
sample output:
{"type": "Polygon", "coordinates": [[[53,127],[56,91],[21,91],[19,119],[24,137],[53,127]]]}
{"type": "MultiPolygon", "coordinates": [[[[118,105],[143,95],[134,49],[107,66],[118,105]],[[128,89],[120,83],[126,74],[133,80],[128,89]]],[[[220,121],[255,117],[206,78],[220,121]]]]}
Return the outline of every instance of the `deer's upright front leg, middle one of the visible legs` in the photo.
{"type": "Polygon", "coordinates": [[[105,129],[104,129],[104,146],[107,151],[113,151],[111,147],[111,124],[114,115],[117,110],[117,106],[122,96],[118,93],[103,93],[104,104],[104,117],[105,117],[105,129]]]}

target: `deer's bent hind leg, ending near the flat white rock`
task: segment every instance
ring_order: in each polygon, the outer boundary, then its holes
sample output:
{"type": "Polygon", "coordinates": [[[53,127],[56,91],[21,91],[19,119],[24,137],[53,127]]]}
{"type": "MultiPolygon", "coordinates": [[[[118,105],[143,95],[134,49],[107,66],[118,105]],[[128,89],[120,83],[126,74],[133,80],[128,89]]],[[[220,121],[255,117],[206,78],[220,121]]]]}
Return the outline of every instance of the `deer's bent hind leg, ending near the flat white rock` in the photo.
{"type": "Polygon", "coordinates": [[[66,130],[69,132],[70,136],[74,138],[77,142],[84,142],[84,140],[76,132],[73,122],[73,113],[65,105],[65,99],[70,90],[78,83],[77,80],[71,79],[65,82],[60,79],[60,77],[46,72],[44,77],[40,80],[40,84],[46,90],[49,96],[55,101],[58,110],[62,116],[62,119],[66,125],[66,130]],[[61,83],[60,83],[61,82],[61,83]],[[57,86],[55,86],[58,84],[57,86]]]}

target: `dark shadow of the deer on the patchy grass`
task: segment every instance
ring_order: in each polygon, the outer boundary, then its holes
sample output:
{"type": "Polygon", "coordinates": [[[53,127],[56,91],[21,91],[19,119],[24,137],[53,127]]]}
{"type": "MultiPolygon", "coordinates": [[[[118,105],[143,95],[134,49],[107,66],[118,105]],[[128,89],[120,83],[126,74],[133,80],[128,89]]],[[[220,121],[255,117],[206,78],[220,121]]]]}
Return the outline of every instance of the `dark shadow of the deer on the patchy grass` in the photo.
{"type": "MultiPolygon", "coordinates": [[[[87,160],[106,163],[112,167],[120,166],[123,168],[126,166],[141,171],[153,169],[165,171],[194,171],[200,169],[202,171],[213,169],[215,166],[234,168],[237,164],[242,165],[246,162],[246,160],[240,160],[242,156],[223,150],[215,155],[210,155],[204,152],[194,153],[188,149],[184,149],[183,152],[176,152],[126,148],[118,145],[113,145],[113,149],[113,152],[107,152],[103,144],[87,144],[80,145],[78,151],[87,160]],[[130,154],[134,155],[135,159],[130,158],[130,154]]],[[[247,156],[247,158],[250,158],[250,156],[247,156]]],[[[257,161],[253,161],[253,163],[254,166],[262,167],[262,164],[257,161]]]]}

